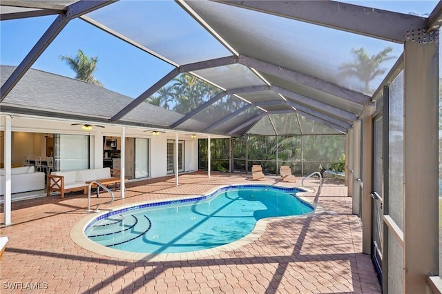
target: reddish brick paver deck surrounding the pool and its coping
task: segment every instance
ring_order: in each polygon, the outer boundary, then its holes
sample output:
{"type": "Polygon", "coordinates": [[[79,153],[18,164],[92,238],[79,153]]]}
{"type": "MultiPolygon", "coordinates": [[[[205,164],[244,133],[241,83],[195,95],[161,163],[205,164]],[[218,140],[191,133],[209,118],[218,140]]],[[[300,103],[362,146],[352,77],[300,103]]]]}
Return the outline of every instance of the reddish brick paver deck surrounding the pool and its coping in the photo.
{"type": "MultiPolygon", "coordinates": [[[[180,175],[179,183],[174,177],[128,183],[126,197],[117,191],[112,206],[204,195],[219,185],[251,183],[251,175],[191,173],[180,175]]],[[[296,186],[270,176],[261,183],[296,186]]],[[[317,186],[318,180],[306,183],[317,186]]],[[[255,242],[233,251],[171,262],[115,259],[75,244],[70,229],[88,215],[81,193],[12,202],[12,225],[0,232],[9,238],[1,293],[381,293],[345,195],[347,187],[325,179],[320,196],[307,197],[324,213],[270,222],[255,242]]],[[[107,202],[106,196],[93,197],[93,204],[107,202]]]]}

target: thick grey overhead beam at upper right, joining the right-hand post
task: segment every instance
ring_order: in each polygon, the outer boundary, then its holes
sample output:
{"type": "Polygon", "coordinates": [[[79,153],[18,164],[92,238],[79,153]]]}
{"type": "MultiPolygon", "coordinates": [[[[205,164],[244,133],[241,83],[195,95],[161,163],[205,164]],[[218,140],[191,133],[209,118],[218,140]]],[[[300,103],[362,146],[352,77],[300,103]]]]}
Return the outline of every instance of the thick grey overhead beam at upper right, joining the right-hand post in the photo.
{"type": "Polygon", "coordinates": [[[427,26],[425,17],[338,1],[215,1],[396,43],[427,26]]]}

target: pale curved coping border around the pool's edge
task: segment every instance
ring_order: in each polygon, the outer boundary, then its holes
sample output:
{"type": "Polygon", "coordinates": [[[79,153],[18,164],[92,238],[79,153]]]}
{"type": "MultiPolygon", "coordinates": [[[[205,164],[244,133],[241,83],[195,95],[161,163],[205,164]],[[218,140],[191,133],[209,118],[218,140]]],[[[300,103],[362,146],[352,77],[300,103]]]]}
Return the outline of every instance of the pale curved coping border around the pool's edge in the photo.
{"type": "MultiPolygon", "coordinates": [[[[241,239],[238,239],[234,242],[231,242],[229,244],[224,244],[222,246],[217,246],[209,249],[204,249],[200,251],[191,251],[186,253],[135,253],[135,252],[128,252],[128,251],[120,251],[114,248],[108,248],[104,245],[97,244],[93,241],[91,241],[86,235],[84,234],[84,231],[88,224],[93,221],[93,219],[96,219],[97,217],[101,215],[106,215],[107,213],[114,211],[114,210],[122,210],[125,208],[130,208],[133,206],[140,206],[144,204],[153,204],[157,202],[173,202],[173,201],[179,201],[183,199],[189,199],[194,198],[195,196],[182,196],[182,197],[174,197],[174,198],[167,198],[167,199],[153,199],[148,200],[144,202],[137,202],[132,204],[127,204],[124,206],[117,206],[115,208],[112,208],[112,210],[103,210],[99,213],[94,213],[91,215],[87,215],[83,219],[81,219],[77,224],[73,226],[73,228],[70,231],[70,239],[75,242],[75,244],[81,246],[82,248],[85,248],[88,251],[91,251],[93,253],[97,253],[100,255],[106,255],[108,257],[114,257],[118,259],[128,259],[128,260],[135,260],[135,261],[155,261],[155,262],[166,262],[166,261],[176,261],[176,260],[189,260],[189,259],[198,259],[200,257],[208,257],[211,255],[218,255],[220,253],[224,253],[227,251],[234,251],[238,248],[241,248],[243,246],[246,246],[247,244],[250,244],[251,242],[254,242],[256,239],[258,239],[263,233],[265,233],[265,229],[267,228],[267,224],[270,222],[276,222],[276,221],[282,221],[287,219],[300,219],[300,218],[307,218],[314,215],[319,215],[320,213],[324,212],[324,208],[320,206],[317,203],[311,202],[309,199],[305,197],[306,193],[313,193],[314,189],[311,189],[309,187],[299,187],[299,186],[277,186],[277,185],[271,185],[271,184],[231,184],[231,185],[220,185],[215,188],[212,188],[204,195],[200,195],[200,197],[208,196],[215,191],[220,190],[225,187],[231,187],[231,186],[273,186],[278,188],[300,188],[302,190],[305,190],[305,192],[298,192],[296,193],[296,196],[301,199],[303,202],[306,202],[307,204],[313,206],[314,210],[311,211],[311,213],[306,213],[304,215],[291,215],[287,217],[267,217],[265,219],[259,219],[253,230],[246,236],[242,237],[241,239]]],[[[309,195],[309,197],[312,197],[309,195]]]]}

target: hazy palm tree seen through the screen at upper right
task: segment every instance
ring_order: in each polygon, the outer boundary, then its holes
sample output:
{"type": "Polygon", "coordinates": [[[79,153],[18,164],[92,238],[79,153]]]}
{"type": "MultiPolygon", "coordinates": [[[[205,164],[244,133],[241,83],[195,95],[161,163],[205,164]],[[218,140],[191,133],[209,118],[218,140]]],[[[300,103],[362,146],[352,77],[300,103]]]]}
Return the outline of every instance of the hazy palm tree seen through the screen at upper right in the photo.
{"type": "Polygon", "coordinates": [[[354,61],[343,63],[343,65],[340,66],[341,75],[345,77],[356,77],[363,81],[365,85],[364,92],[371,94],[373,90],[370,89],[370,81],[385,73],[385,68],[381,68],[381,64],[384,61],[396,58],[390,56],[392,51],[393,48],[389,46],[381,52],[378,52],[378,54],[370,57],[363,47],[353,49],[354,61]]]}

